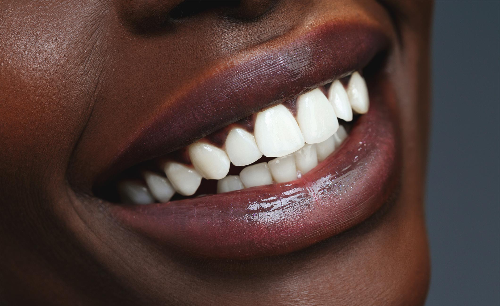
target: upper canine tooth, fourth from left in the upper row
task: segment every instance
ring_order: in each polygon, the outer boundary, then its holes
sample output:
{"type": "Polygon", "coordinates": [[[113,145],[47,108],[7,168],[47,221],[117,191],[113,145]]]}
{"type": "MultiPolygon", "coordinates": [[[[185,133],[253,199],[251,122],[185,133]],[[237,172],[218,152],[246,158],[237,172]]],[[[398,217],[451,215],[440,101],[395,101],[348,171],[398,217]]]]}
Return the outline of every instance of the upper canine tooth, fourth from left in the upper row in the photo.
{"type": "Polygon", "coordinates": [[[197,141],[189,146],[189,158],[205,179],[219,180],[229,172],[231,162],[225,151],[216,146],[197,141]]]}

